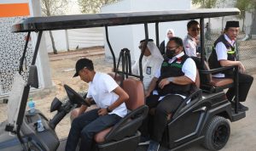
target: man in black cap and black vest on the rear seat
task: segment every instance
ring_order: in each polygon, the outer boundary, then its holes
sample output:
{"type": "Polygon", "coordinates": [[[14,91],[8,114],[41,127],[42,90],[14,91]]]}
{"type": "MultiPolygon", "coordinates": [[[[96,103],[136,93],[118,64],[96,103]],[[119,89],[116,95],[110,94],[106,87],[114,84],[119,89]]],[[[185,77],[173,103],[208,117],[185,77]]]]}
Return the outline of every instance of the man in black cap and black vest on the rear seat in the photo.
{"type": "MultiPolygon", "coordinates": [[[[212,50],[212,54],[208,60],[209,66],[211,69],[220,68],[222,66],[232,66],[238,65],[239,67],[239,102],[244,102],[247,98],[247,94],[250,90],[250,87],[253,83],[253,76],[249,76],[243,74],[245,68],[241,61],[237,61],[236,59],[236,36],[239,32],[239,22],[238,21],[227,21],[224,34],[219,36],[216,42],[214,42],[214,47],[212,50]]],[[[213,75],[217,78],[229,77],[233,78],[234,72],[233,70],[225,70],[223,72],[219,72],[216,75],[213,75]]],[[[231,87],[226,93],[227,98],[231,103],[233,98],[235,97],[235,87],[231,87]]],[[[238,109],[240,111],[246,111],[248,108],[241,103],[238,104],[238,109]]]]}

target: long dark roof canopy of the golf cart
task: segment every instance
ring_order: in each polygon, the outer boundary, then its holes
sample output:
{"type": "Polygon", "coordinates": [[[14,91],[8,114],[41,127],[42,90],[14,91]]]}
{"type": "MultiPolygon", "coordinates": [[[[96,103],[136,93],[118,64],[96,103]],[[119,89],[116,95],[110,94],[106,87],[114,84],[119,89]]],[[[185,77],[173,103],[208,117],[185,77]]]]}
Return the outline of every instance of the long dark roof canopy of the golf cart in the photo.
{"type": "Polygon", "coordinates": [[[12,31],[53,31],[112,25],[135,25],[166,21],[195,20],[237,14],[240,14],[238,8],[203,8],[191,10],[30,17],[20,20],[13,25],[12,31]]]}

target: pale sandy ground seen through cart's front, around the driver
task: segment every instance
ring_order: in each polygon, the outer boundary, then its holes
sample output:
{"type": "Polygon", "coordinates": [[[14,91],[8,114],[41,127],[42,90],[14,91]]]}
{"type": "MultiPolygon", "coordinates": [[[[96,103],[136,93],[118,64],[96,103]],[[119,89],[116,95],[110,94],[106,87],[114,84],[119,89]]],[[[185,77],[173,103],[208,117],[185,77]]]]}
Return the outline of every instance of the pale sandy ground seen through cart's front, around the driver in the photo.
{"type": "MultiPolygon", "coordinates": [[[[93,60],[96,71],[101,71],[108,73],[112,69],[112,63],[104,60],[104,55],[90,56],[89,59],[93,60]],[[104,64],[104,66],[102,65],[104,64]]],[[[49,112],[50,103],[52,100],[57,98],[65,98],[67,96],[63,85],[67,84],[72,87],[77,92],[84,92],[87,90],[88,85],[84,81],[81,81],[79,77],[73,78],[74,66],[79,57],[74,57],[72,59],[61,59],[50,61],[52,81],[55,85],[55,91],[50,92],[47,95],[37,95],[33,97],[36,102],[36,109],[40,109],[46,117],[51,119],[54,113],[49,112]]],[[[7,105],[0,103],[0,123],[7,119],[6,115],[7,105]]],[[[55,130],[58,137],[67,137],[68,131],[70,129],[69,115],[61,120],[61,122],[56,126],[55,130]]]]}

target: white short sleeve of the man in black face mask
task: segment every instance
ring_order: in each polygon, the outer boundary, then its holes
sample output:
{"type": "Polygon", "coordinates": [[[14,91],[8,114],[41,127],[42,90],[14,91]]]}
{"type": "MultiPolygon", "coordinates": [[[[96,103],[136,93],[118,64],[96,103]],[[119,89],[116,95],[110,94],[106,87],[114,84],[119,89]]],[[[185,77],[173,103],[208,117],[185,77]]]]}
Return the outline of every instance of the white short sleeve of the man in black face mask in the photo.
{"type": "Polygon", "coordinates": [[[196,76],[196,65],[193,59],[187,59],[183,64],[183,73],[184,76],[187,76],[191,81],[195,82],[196,76]]]}

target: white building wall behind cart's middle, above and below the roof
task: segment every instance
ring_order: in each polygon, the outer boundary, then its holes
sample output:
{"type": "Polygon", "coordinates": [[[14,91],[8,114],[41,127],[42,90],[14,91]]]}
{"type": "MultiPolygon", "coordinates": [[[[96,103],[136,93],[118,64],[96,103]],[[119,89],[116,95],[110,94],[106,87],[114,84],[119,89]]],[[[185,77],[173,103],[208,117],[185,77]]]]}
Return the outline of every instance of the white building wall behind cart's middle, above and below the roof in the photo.
{"type": "MultiPolygon", "coordinates": [[[[191,8],[190,0],[123,0],[119,3],[113,3],[102,7],[102,13],[110,12],[134,12],[134,11],[152,11],[152,10],[177,10],[191,8]]],[[[166,29],[172,28],[176,36],[183,38],[187,34],[187,21],[160,23],[160,42],[165,38],[166,29]]],[[[137,48],[140,40],[145,38],[144,25],[122,25],[108,27],[109,41],[112,44],[116,58],[119,57],[121,48],[131,50],[131,60],[139,58],[140,51],[137,48]]],[[[155,40],[154,24],[148,25],[148,36],[155,40]]],[[[105,42],[106,58],[111,59],[112,55],[109,51],[108,44],[105,42]]]]}

